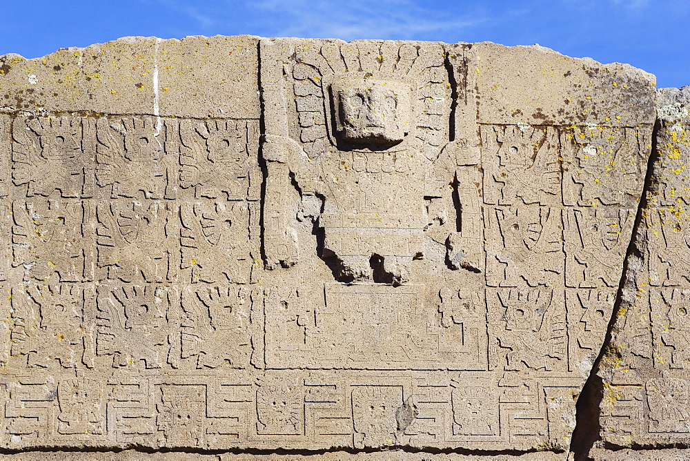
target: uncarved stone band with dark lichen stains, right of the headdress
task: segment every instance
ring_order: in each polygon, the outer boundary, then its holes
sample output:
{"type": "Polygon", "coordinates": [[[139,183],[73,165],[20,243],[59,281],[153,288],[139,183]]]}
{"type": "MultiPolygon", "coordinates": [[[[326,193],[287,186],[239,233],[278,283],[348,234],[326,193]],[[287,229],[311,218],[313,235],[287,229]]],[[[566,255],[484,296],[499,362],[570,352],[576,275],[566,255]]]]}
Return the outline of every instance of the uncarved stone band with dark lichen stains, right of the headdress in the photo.
{"type": "Polygon", "coordinates": [[[473,49],[484,123],[636,126],[655,117],[649,92],[640,92],[640,82],[653,77],[628,64],[602,65],[541,46],[473,49]]]}

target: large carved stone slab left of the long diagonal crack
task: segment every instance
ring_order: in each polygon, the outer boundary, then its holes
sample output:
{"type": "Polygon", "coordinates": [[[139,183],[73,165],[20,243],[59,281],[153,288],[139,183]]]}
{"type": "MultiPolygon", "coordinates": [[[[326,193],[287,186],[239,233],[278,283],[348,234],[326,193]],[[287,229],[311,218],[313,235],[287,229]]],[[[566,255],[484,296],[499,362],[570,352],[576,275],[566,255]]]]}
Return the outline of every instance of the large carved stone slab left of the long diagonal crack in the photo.
{"type": "Polygon", "coordinates": [[[493,43],[2,59],[2,447],[566,456],[652,76],[493,43]]]}

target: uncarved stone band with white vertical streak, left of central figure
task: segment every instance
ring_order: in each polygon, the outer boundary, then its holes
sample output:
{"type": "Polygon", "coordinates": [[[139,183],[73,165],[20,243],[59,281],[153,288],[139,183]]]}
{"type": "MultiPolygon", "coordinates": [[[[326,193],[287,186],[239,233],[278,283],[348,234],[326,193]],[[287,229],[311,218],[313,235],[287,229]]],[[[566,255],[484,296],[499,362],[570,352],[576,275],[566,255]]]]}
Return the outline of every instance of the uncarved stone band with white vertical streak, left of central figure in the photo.
{"type": "Polygon", "coordinates": [[[0,110],[258,119],[258,37],[126,37],[0,57],[0,110]]]}

